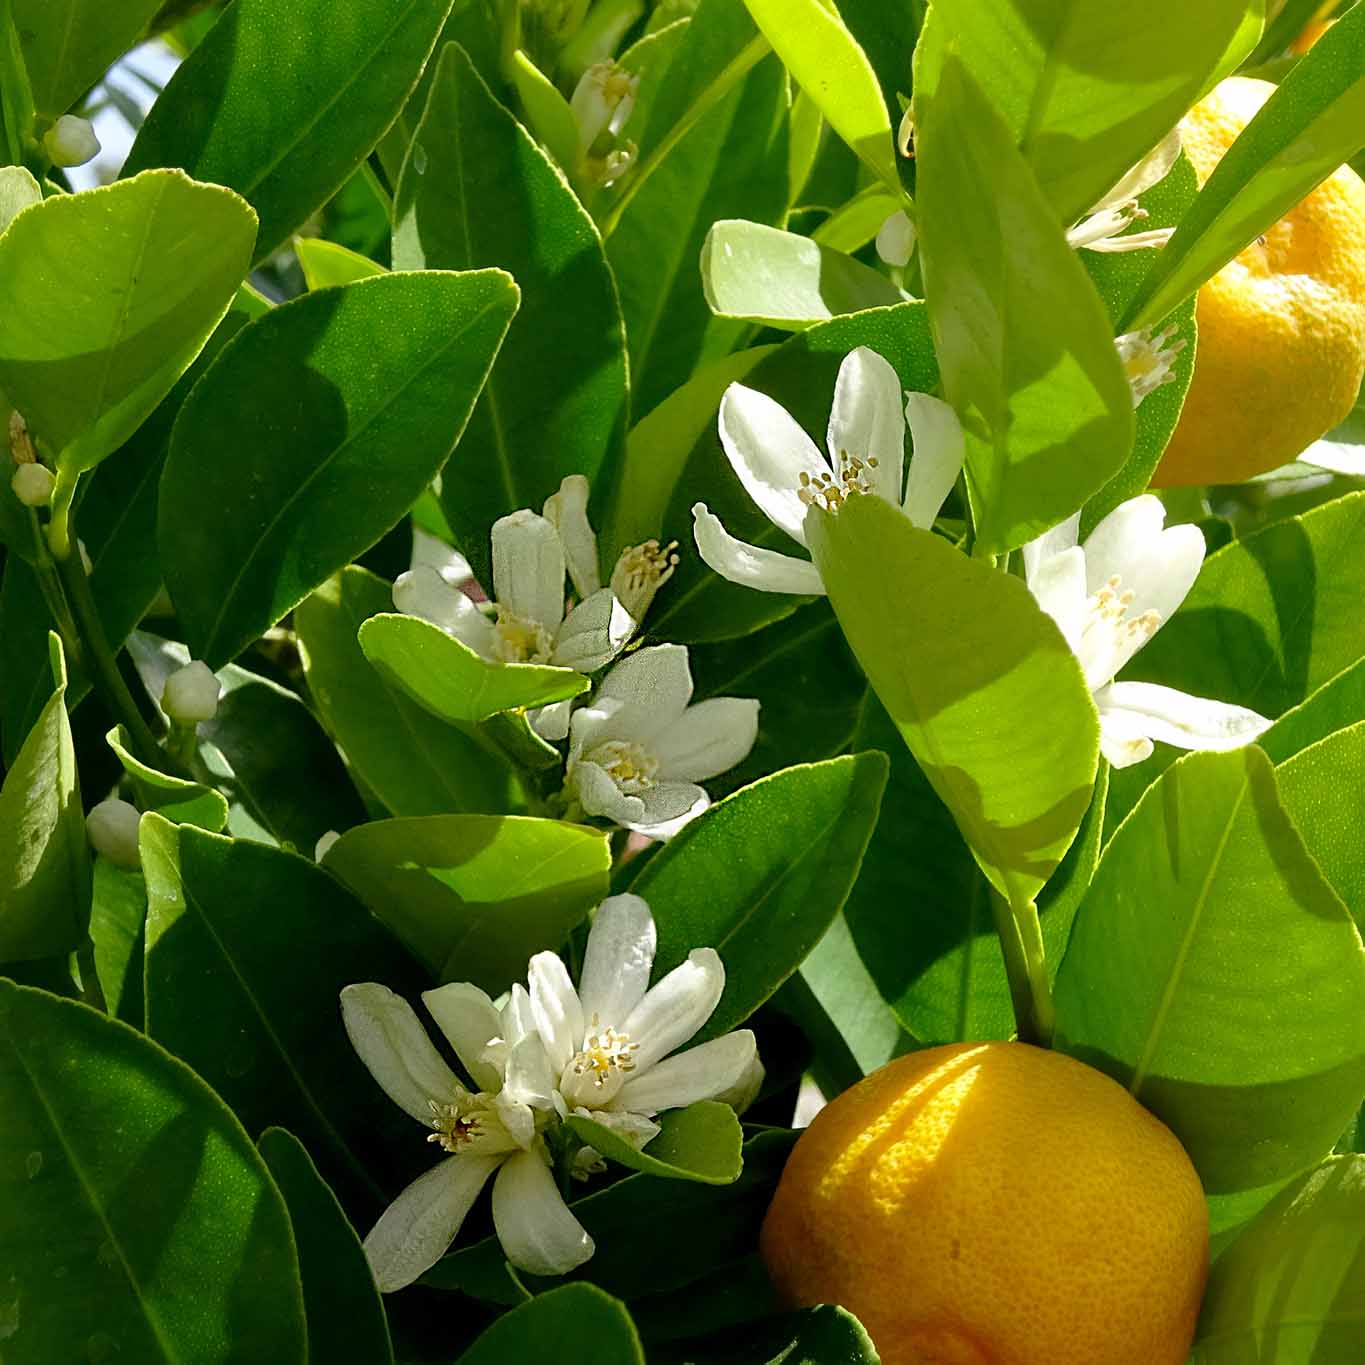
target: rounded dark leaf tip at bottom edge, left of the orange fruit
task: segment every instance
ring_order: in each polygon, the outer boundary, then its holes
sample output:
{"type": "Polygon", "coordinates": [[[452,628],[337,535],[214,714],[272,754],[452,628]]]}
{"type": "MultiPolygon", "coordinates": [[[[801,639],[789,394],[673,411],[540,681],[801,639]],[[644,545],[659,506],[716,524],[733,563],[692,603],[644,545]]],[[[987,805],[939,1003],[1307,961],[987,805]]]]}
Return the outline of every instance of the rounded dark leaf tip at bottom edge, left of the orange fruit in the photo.
{"type": "Polygon", "coordinates": [[[644,1365],[644,1351],[624,1304],[591,1284],[565,1284],[498,1319],[457,1365],[644,1365]]]}

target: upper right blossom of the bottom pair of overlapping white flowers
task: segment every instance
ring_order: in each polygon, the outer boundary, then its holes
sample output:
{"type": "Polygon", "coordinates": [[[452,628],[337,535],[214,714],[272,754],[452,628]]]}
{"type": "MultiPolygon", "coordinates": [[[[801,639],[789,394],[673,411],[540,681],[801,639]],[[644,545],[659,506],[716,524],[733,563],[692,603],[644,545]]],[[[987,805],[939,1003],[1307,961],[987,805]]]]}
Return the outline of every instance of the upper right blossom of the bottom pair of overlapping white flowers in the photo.
{"type": "MultiPolygon", "coordinates": [[[[725,968],[714,949],[696,949],[648,988],[655,942],[646,901],[613,895],[592,919],[577,990],[554,953],[530,966],[531,1014],[565,1107],[635,1148],[658,1134],[665,1110],[711,1099],[743,1108],[763,1078],[748,1029],[669,1055],[711,1017],[725,968]]],[[[580,1153],[580,1173],[595,1167],[597,1153],[580,1153]]]]}

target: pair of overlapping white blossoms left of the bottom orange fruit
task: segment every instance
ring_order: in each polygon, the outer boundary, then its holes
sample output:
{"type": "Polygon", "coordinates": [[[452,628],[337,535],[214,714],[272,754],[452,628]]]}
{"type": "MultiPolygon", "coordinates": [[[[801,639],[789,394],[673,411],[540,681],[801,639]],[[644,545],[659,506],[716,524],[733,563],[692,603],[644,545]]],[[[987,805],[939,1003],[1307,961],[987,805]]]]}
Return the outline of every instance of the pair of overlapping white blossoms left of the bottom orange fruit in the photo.
{"type": "Polygon", "coordinates": [[[389,1205],[364,1239],[385,1293],[430,1269],[493,1177],[493,1224],[508,1260],[564,1275],[592,1256],[554,1167],[586,1178],[597,1152],[566,1140],[579,1114],[640,1149],[657,1117],[698,1100],[743,1110],[763,1080],[753,1035],[737,1029],[689,1048],[725,990],[714,949],[692,951],[652,987],[657,934],[639,895],[602,902],[575,988],[561,958],[538,953],[495,1005],[470,983],[423,992],[423,1003],[472,1087],[437,1051],[412,1007],[377,983],[341,992],[347,1033],[385,1093],[445,1155],[389,1205]],[[676,1054],[676,1055],[673,1055],[676,1054]]]}

